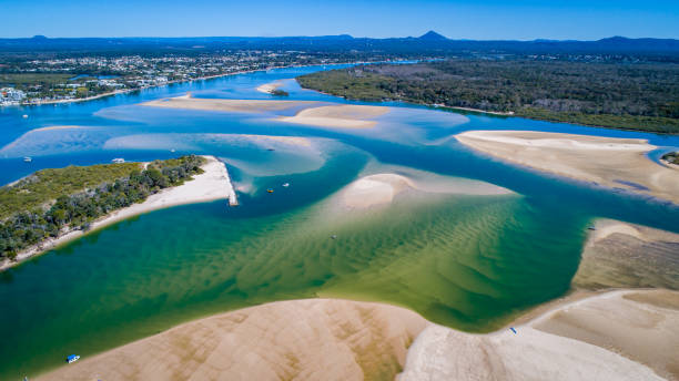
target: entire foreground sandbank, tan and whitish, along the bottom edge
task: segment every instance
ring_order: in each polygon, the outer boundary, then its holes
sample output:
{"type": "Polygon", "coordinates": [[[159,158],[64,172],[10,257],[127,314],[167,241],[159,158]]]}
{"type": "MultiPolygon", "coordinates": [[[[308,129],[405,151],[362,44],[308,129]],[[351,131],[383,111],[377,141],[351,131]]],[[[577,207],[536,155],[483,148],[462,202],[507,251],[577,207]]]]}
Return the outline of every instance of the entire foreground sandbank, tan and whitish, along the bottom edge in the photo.
{"type": "Polygon", "coordinates": [[[619,290],[488,334],[382,303],[266,303],[175,327],[39,380],[676,380],[679,292],[619,290]],[[414,341],[413,341],[414,339],[414,341]],[[412,343],[412,346],[411,346],[412,343]]]}

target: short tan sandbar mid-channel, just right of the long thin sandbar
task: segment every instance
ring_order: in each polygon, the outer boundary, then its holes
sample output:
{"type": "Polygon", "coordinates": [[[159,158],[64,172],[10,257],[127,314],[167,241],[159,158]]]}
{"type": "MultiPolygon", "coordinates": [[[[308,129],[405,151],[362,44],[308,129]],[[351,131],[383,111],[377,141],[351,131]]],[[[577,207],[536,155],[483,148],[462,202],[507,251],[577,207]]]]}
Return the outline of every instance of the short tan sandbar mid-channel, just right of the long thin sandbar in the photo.
{"type": "Polygon", "coordinates": [[[342,104],[311,107],[300,111],[295,116],[282,116],[278,121],[332,128],[369,128],[377,122],[371,119],[389,111],[385,106],[342,104]]]}

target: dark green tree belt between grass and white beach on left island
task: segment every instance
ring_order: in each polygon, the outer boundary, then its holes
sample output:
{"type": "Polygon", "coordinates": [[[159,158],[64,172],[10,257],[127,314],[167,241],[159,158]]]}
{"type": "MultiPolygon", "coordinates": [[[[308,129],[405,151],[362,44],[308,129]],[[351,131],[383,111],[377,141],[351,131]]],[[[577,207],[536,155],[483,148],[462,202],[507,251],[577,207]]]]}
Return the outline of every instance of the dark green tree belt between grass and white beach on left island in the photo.
{"type": "MultiPolygon", "coordinates": [[[[62,194],[47,207],[16,213],[0,223],[0,258],[17,254],[63,231],[88,230],[90,224],[109,213],[141,203],[161,189],[183,184],[203,171],[204,158],[195,155],[154,161],[140,171],[73,194],[62,194]]],[[[87,168],[83,174],[87,176],[87,168]]],[[[39,179],[38,179],[39,181],[39,179]]]]}

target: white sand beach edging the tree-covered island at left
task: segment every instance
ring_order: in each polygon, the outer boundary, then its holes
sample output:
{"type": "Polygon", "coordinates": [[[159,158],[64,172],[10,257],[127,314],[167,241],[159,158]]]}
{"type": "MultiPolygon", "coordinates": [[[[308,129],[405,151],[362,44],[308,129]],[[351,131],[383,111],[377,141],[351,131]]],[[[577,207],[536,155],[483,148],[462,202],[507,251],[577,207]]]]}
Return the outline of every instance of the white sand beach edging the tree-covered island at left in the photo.
{"type": "Polygon", "coordinates": [[[194,175],[193,179],[180,186],[163,189],[149,196],[143,203],[134,204],[122,209],[112,212],[94,220],[87,231],[70,229],[61,233],[58,237],[45,239],[36,244],[17,255],[16,260],[4,259],[0,262],[0,272],[18,266],[30,258],[45,254],[74,239],[100,230],[109,225],[121,220],[146,214],[153,210],[164,209],[172,206],[206,203],[216,199],[229,199],[230,206],[237,205],[237,198],[233,184],[229,177],[226,165],[214,156],[203,155],[207,159],[202,168],[205,171],[194,175]]]}

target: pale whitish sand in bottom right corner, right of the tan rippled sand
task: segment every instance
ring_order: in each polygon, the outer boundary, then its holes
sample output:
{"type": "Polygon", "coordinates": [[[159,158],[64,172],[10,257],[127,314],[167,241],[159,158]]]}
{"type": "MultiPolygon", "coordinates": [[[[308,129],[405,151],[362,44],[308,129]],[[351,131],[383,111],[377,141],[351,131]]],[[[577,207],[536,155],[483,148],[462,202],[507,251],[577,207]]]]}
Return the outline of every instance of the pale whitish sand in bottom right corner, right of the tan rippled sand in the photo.
{"type": "Polygon", "coordinates": [[[677,379],[679,292],[614,291],[489,334],[432,325],[408,350],[404,380],[677,379]],[[610,323],[608,323],[610,322],[610,323]],[[653,356],[657,353],[657,356],[653,356]]]}

